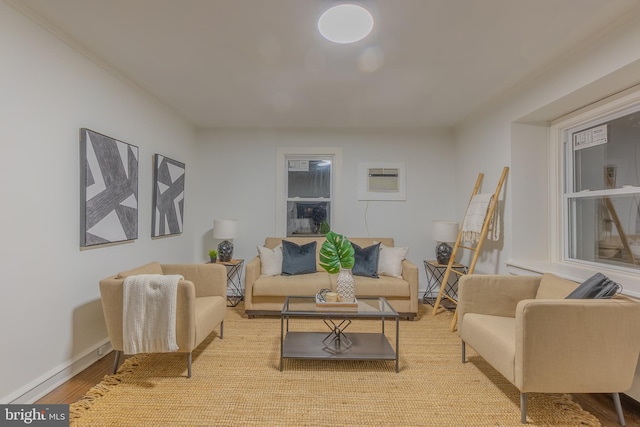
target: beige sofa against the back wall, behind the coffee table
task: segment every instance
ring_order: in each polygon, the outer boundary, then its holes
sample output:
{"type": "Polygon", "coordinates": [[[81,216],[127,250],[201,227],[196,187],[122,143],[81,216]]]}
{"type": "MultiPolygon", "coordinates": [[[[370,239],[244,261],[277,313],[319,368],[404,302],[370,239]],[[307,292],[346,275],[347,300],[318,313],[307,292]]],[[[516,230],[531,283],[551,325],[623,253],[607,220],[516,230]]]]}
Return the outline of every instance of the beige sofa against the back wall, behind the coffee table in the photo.
{"type": "MultiPolygon", "coordinates": [[[[315,295],[323,288],[336,289],[336,274],[327,273],[320,267],[318,252],[325,241],[319,237],[267,237],[265,247],[273,249],[289,240],[299,245],[316,241],[316,272],[295,276],[261,275],[260,257],[247,263],[245,273],[245,310],[249,317],[278,314],[286,296],[315,295]]],[[[356,245],[365,248],[374,241],[385,246],[394,246],[392,238],[349,238],[356,245]]],[[[414,319],[418,313],[418,267],[408,260],[402,261],[402,277],[381,275],[379,278],[354,276],[356,297],[383,296],[393,308],[407,319],[414,319]]]]}

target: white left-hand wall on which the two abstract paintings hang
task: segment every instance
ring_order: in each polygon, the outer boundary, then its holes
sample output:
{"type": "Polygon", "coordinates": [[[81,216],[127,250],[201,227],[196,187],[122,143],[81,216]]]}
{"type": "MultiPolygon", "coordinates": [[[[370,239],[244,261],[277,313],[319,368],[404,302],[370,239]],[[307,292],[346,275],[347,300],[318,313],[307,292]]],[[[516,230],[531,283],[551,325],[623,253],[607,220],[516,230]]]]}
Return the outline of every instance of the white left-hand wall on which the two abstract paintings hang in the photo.
{"type": "Polygon", "coordinates": [[[0,402],[7,403],[33,398],[33,387],[106,342],[99,279],[152,260],[194,259],[195,133],[5,2],[0,57],[0,402]],[[135,243],[79,249],[81,127],[140,148],[135,243]],[[154,153],[187,165],[180,237],[150,238],[154,153]]]}

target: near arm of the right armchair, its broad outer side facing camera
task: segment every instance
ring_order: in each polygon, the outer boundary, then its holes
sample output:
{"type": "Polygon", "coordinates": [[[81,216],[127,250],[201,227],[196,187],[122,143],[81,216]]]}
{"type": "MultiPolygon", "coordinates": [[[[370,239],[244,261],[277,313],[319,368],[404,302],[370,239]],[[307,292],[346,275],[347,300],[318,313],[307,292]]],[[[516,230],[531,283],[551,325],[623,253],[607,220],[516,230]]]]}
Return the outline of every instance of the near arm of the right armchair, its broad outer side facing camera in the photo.
{"type": "Polygon", "coordinates": [[[521,391],[610,393],[631,387],[640,353],[638,302],[525,300],[517,306],[515,328],[515,385],[521,391]]]}

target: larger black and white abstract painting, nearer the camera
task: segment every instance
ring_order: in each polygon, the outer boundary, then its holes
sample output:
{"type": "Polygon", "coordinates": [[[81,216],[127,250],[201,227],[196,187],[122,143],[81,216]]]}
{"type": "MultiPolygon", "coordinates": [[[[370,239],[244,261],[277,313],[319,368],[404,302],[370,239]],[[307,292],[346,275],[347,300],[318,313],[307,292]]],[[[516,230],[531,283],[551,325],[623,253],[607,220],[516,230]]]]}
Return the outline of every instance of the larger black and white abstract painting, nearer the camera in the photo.
{"type": "Polygon", "coordinates": [[[80,129],[80,246],[138,237],[138,147],[80,129]]]}

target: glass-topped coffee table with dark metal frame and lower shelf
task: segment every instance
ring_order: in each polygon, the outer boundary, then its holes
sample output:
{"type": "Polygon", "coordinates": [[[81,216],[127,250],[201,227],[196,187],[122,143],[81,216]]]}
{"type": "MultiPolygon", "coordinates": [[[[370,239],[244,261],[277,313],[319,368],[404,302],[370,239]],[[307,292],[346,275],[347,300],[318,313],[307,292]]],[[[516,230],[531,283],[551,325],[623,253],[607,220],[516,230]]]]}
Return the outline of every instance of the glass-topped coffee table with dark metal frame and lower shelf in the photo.
{"type": "Polygon", "coordinates": [[[400,316],[384,297],[358,298],[357,306],[324,306],[315,296],[288,296],[280,312],[280,371],[284,359],[395,360],[398,372],[400,316]],[[295,318],[318,318],[324,332],[290,331],[295,318]],[[378,318],[380,332],[349,332],[353,319],[378,318]],[[385,319],[395,319],[395,349],[384,333],[385,319]]]}

